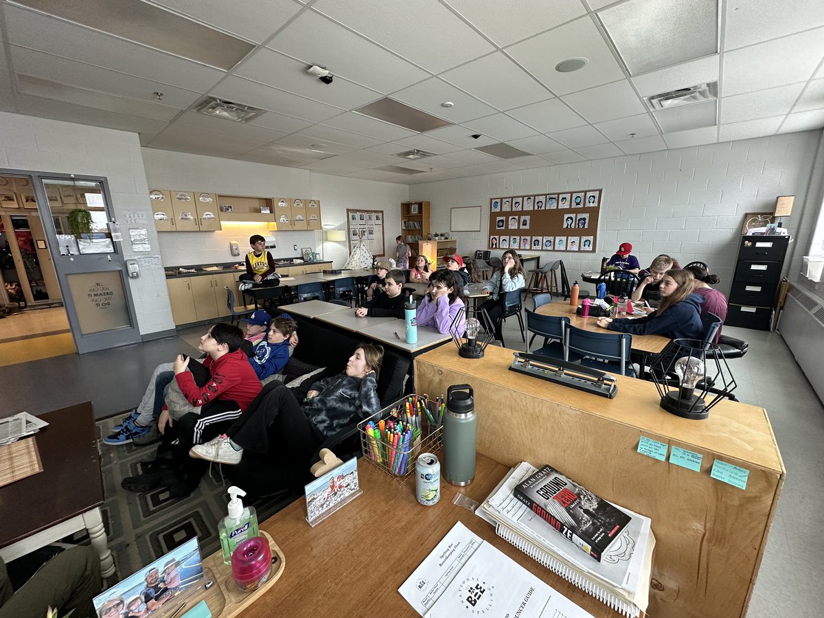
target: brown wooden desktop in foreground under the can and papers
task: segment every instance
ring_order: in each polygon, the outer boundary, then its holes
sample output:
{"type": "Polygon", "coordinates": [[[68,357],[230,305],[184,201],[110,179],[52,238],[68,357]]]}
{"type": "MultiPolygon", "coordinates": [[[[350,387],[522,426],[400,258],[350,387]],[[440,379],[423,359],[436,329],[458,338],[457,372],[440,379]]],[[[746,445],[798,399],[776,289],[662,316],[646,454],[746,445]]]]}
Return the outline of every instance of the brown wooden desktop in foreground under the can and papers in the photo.
{"type": "Polygon", "coordinates": [[[453,504],[456,494],[483,501],[508,467],[478,455],[475,471],[475,481],[466,487],[449,485],[441,477],[440,500],[423,506],[414,497],[414,475],[399,484],[359,459],[363,494],[316,527],[307,524],[304,499],[260,523],[260,530],[283,550],[286,568],[243,617],[418,616],[397,590],[458,521],[593,616],[620,616],[504,541],[488,522],[453,504]]]}

